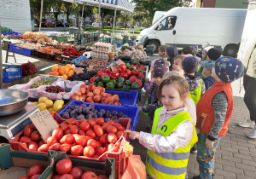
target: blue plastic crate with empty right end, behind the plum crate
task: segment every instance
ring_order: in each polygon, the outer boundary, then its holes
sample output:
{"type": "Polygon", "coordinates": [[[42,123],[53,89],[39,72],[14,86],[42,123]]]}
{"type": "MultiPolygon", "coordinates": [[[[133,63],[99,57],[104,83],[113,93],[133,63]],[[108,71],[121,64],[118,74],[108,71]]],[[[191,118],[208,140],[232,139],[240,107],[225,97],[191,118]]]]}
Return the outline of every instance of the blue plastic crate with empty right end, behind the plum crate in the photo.
{"type": "Polygon", "coordinates": [[[122,106],[136,106],[138,91],[118,91],[118,90],[106,90],[106,93],[111,95],[119,95],[119,102],[122,106]]]}

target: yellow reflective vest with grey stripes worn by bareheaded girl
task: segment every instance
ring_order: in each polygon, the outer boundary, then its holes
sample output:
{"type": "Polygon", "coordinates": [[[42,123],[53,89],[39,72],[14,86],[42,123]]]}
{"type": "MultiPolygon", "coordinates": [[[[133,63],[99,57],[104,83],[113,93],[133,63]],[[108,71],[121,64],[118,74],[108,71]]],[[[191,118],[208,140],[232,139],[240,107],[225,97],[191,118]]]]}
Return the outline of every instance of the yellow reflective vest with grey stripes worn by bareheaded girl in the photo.
{"type": "Polygon", "coordinates": [[[148,174],[154,178],[184,179],[187,172],[190,148],[193,147],[197,141],[195,124],[189,115],[189,112],[183,112],[169,118],[158,130],[156,130],[160,119],[160,115],[157,114],[160,113],[162,108],[163,107],[158,108],[154,113],[154,122],[151,131],[152,135],[158,134],[161,136],[170,136],[172,131],[176,130],[180,124],[189,120],[194,125],[193,136],[188,146],[177,148],[177,150],[172,153],[154,153],[148,149],[146,170],[148,174]]]}

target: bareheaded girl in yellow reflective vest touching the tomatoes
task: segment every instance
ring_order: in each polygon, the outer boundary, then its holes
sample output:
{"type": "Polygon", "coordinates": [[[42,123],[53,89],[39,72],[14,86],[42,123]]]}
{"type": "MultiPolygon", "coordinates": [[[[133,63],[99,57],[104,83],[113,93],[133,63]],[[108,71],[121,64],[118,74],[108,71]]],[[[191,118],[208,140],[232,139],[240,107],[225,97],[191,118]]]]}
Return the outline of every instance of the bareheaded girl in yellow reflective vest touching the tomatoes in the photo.
{"type": "Polygon", "coordinates": [[[130,132],[131,139],[148,148],[146,170],[152,178],[180,178],[186,176],[189,150],[197,141],[195,124],[187,111],[189,85],[182,77],[172,76],[162,81],[157,97],[164,107],[154,113],[151,134],[130,132]]]}

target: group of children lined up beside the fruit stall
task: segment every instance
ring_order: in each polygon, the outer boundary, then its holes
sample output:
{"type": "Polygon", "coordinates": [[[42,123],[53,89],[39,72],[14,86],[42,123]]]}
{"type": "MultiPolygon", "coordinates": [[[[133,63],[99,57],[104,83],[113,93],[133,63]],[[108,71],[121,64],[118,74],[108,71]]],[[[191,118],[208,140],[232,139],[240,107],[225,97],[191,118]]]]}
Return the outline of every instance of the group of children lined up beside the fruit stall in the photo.
{"type": "Polygon", "coordinates": [[[148,148],[148,178],[187,178],[195,144],[200,175],[193,178],[213,176],[216,148],[233,111],[231,82],[243,76],[244,66],[221,56],[219,48],[202,49],[201,58],[195,50],[184,48],[178,55],[176,47],[161,46],[162,59],[151,63],[148,100],[139,107],[150,119],[151,133],[127,131],[148,148]]]}

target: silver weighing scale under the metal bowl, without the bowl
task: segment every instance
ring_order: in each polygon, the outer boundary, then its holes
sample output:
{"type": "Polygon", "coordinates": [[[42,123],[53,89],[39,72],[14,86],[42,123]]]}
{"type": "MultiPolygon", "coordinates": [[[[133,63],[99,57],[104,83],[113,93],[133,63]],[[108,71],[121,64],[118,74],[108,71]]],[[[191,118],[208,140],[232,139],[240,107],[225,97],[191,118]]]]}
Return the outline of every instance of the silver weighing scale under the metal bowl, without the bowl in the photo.
{"type": "Polygon", "coordinates": [[[29,118],[29,116],[38,112],[38,106],[27,104],[26,107],[24,107],[18,113],[14,113],[9,116],[1,116],[0,137],[3,136],[9,141],[9,139],[23,130],[27,124],[31,124],[32,120],[29,118]]]}

